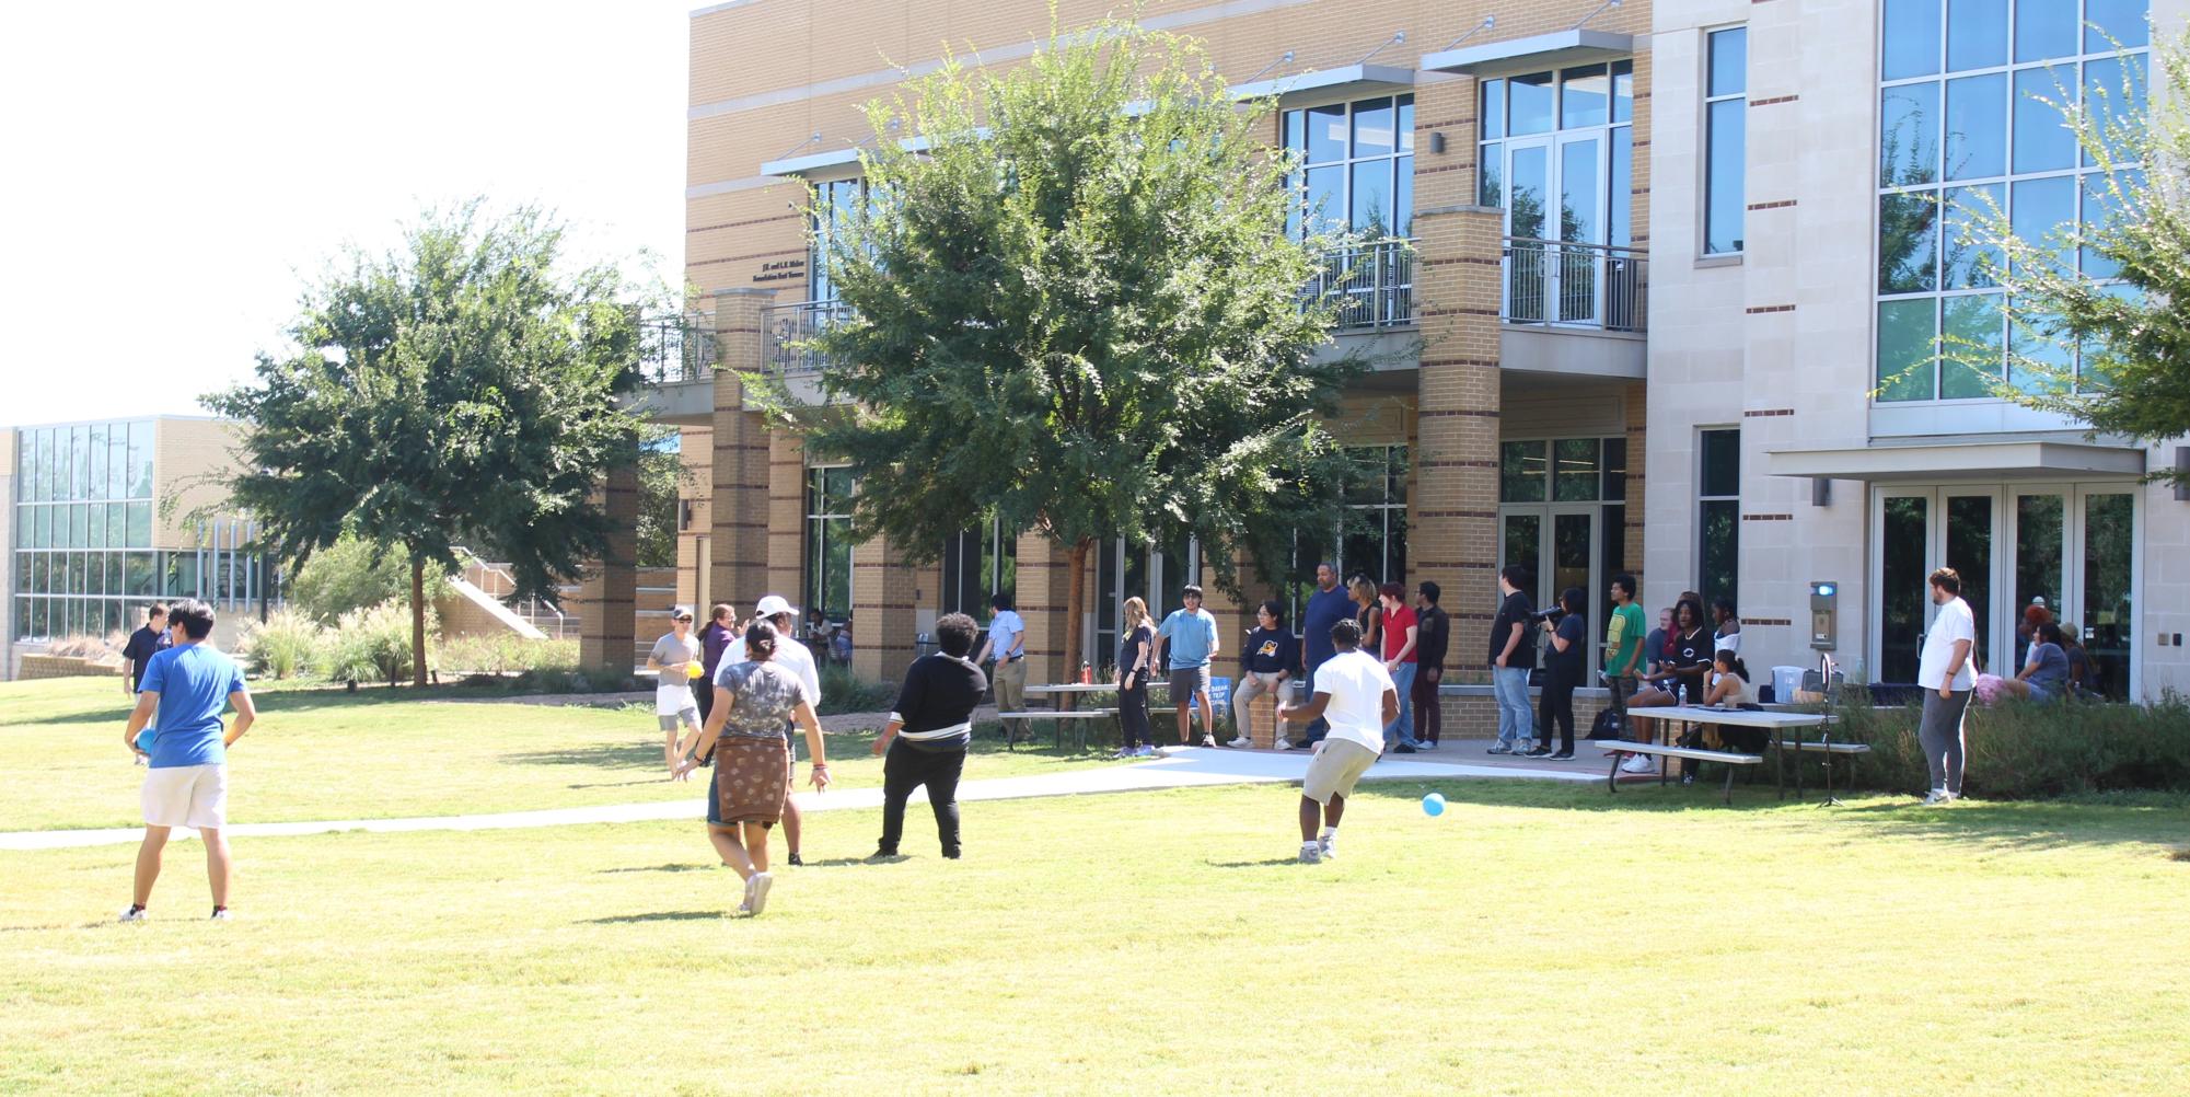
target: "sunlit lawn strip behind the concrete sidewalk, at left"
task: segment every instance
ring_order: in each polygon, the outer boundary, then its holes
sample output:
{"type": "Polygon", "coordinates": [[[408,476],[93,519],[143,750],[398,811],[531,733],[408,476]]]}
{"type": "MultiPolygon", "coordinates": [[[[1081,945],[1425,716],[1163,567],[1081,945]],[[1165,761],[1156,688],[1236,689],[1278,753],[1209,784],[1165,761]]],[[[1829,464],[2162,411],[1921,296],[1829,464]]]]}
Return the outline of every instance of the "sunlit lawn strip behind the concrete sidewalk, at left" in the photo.
{"type": "MultiPolygon", "coordinates": [[[[670,784],[650,705],[598,709],[480,701],[462,690],[261,690],[230,755],[230,821],[392,819],[639,804],[705,795],[670,784]],[[464,701],[471,696],[471,701],[464,701]]],[[[120,744],[112,679],[0,685],[0,830],[136,825],[145,771],[120,744]]],[[[1003,751],[983,727],[968,777],[1102,764],[1093,753],[1003,751]]],[[[883,784],[872,731],[828,738],[839,788],[883,784]]],[[[703,782],[705,773],[696,777],[703,782]]],[[[804,771],[802,771],[804,780],[804,771]]]]}

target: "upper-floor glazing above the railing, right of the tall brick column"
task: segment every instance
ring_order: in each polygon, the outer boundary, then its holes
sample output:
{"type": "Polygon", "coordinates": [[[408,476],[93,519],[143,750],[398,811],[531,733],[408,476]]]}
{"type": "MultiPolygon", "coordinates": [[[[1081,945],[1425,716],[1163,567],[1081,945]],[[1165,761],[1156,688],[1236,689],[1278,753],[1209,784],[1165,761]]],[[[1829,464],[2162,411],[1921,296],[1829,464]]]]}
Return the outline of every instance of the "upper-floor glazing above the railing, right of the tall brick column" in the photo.
{"type": "Polygon", "coordinates": [[[1476,112],[1476,201],[1509,236],[1634,243],[1634,61],[1485,79],[1476,112]]]}

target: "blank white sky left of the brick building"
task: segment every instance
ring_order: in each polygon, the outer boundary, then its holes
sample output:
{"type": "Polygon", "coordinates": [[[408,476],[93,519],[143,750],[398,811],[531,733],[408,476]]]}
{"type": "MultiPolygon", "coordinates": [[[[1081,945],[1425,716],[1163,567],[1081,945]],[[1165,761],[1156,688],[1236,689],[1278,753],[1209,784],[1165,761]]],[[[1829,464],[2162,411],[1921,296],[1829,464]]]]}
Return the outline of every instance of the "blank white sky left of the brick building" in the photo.
{"type": "Polygon", "coordinates": [[[696,2],[9,4],[0,425],[199,414],[344,243],[469,195],[679,285],[696,2]]]}

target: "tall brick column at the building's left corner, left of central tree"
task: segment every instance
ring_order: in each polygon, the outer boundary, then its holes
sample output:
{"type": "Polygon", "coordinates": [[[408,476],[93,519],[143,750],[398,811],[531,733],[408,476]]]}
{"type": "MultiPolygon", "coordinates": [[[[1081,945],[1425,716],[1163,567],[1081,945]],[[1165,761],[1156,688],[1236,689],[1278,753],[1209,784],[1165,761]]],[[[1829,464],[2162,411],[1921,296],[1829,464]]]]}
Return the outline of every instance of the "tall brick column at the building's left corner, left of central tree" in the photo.
{"type": "Polygon", "coordinates": [[[773,289],[714,291],[714,337],[723,368],[714,374],[714,558],[705,567],[707,593],[738,607],[738,613],[751,613],[753,602],[769,593],[769,429],[756,412],[745,409],[740,370],[762,368],[760,311],[771,300],[773,289]]]}

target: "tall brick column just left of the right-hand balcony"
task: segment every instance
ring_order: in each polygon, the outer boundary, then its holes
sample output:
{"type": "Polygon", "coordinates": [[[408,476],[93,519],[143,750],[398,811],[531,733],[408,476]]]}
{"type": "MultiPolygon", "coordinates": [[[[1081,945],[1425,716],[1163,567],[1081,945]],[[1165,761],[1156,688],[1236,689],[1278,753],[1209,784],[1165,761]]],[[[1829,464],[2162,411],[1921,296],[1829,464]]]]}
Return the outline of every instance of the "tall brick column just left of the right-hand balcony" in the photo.
{"type": "Polygon", "coordinates": [[[1421,300],[1408,558],[1413,576],[1443,587],[1452,615],[1445,681],[1489,681],[1476,655],[1498,580],[1498,300],[1502,215],[1474,206],[1474,81],[1424,85],[1417,112],[1452,118],[1450,164],[1417,166],[1417,276],[1421,300]]]}

